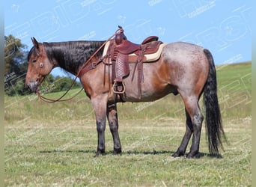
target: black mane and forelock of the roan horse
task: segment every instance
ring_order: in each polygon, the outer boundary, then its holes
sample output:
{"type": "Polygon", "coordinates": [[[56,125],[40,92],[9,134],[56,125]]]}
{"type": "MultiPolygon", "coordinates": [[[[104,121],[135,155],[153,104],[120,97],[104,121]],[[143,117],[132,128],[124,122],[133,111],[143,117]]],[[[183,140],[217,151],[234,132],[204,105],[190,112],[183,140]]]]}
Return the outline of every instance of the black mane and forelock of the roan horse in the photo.
{"type": "MultiPolygon", "coordinates": [[[[55,42],[43,43],[46,55],[50,61],[57,61],[58,66],[67,70],[70,73],[76,74],[79,67],[87,61],[94,52],[105,41],[70,41],[70,42],[55,42]]],[[[103,55],[103,49],[97,52],[97,57],[103,55]]],[[[28,53],[28,59],[35,52],[34,47],[28,53]]]]}

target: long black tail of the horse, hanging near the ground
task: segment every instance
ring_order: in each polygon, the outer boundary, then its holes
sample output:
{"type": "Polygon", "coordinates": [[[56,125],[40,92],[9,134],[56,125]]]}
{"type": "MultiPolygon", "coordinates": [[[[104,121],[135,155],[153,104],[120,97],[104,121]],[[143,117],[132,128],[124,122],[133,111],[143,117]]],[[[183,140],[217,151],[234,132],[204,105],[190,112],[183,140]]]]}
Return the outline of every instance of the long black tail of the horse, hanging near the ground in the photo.
{"type": "Polygon", "coordinates": [[[210,51],[208,49],[204,49],[204,54],[207,56],[210,64],[208,79],[204,85],[205,121],[209,152],[212,155],[219,155],[219,147],[222,147],[222,135],[225,138],[225,133],[222,128],[222,115],[219,110],[217,96],[216,68],[213,61],[213,55],[210,51]]]}

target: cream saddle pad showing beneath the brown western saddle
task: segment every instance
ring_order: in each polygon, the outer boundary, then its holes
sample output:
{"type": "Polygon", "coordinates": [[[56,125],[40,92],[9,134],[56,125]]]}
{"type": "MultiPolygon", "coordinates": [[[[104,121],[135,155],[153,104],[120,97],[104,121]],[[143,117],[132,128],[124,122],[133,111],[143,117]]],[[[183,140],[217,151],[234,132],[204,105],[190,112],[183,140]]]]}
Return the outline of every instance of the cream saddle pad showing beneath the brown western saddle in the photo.
{"type": "MultiPolygon", "coordinates": [[[[107,54],[109,45],[111,42],[112,42],[112,40],[108,41],[106,43],[106,45],[104,46],[103,56],[105,56],[107,54]]],[[[162,53],[162,48],[164,46],[166,46],[167,44],[168,43],[162,43],[162,44],[160,44],[159,49],[155,53],[144,55],[143,62],[156,61],[157,59],[159,59],[160,55],[162,53]]],[[[129,54],[129,59],[136,59],[137,56],[138,55],[135,55],[135,53],[129,54]]],[[[129,62],[132,63],[132,62],[136,62],[136,61],[129,61],[129,62]]]]}

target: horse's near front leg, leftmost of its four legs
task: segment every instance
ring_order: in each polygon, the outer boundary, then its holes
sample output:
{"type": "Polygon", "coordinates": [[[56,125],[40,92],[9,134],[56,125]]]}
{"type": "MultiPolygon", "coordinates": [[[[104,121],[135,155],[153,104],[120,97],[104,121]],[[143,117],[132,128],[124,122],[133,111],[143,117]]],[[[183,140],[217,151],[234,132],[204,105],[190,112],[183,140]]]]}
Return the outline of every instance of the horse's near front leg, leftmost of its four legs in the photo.
{"type": "Polygon", "coordinates": [[[106,96],[95,96],[91,98],[91,104],[93,105],[96,117],[98,135],[97,153],[95,156],[105,155],[106,100],[106,96]]]}

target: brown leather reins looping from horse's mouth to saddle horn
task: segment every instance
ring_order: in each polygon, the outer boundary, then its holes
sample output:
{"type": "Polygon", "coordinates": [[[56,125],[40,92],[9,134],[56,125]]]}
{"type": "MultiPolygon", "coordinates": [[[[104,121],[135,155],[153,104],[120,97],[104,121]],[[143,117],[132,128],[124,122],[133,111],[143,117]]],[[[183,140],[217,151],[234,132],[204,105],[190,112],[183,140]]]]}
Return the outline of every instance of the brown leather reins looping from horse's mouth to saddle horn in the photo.
{"type": "MultiPolygon", "coordinates": [[[[41,94],[40,94],[40,92],[38,91],[38,89],[37,89],[37,91],[36,91],[36,92],[37,92],[37,96],[38,96],[41,100],[43,100],[44,102],[62,102],[62,101],[69,101],[69,100],[73,99],[75,96],[77,96],[84,88],[81,88],[81,90],[80,90],[78,93],[76,93],[74,96],[70,97],[69,99],[62,99],[64,96],[67,95],[67,93],[68,93],[68,92],[70,91],[70,89],[73,87],[73,85],[74,85],[75,82],[76,82],[76,79],[80,76],[80,73],[82,72],[82,70],[86,67],[86,65],[89,63],[89,61],[91,61],[91,59],[97,54],[97,52],[99,52],[100,49],[102,49],[103,46],[105,46],[106,43],[109,42],[109,40],[112,40],[112,37],[115,37],[115,35],[118,33],[118,31],[123,31],[123,28],[122,28],[121,26],[118,26],[118,27],[119,27],[119,28],[118,28],[117,31],[115,31],[115,34],[112,34],[112,36],[109,37],[109,39],[106,40],[106,41],[94,52],[94,54],[91,55],[91,57],[90,57],[87,61],[85,61],[85,64],[82,66],[82,68],[80,68],[79,72],[76,74],[75,79],[73,79],[73,82],[71,83],[70,88],[68,88],[67,91],[66,91],[62,96],[60,96],[58,99],[49,99],[49,98],[46,98],[45,96],[41,96],[41,94]]],[[[104,57],[103,57],[103,58],[104,58],[104,57]]],[[[103,61],[103,58],[100,58],[99,61],[97,61],[96,64],[99,64],[100,61],[103,61]]],[[[97,65],[96,65],[96,66],[97,66],[97,65]]],[[[96,66],[95,66],[95,67],[96,67],[96,66]]],[[[94,68],[95,68],[95,67],[94,67],[94,68]]]]}

